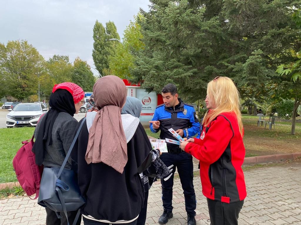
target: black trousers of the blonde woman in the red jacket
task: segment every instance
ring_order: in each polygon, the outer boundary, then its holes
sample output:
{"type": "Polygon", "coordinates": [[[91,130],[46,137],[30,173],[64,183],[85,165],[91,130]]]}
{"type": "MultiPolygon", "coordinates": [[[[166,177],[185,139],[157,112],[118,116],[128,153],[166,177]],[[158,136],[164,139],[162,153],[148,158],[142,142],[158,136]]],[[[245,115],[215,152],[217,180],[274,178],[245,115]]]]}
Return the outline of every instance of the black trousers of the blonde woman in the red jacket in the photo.
{"type": "Polygon", "coordinates": [[[238,202],[220,202],[207,198],[211,225],[237,225],[238,214],[244,200],[238,202]]]}

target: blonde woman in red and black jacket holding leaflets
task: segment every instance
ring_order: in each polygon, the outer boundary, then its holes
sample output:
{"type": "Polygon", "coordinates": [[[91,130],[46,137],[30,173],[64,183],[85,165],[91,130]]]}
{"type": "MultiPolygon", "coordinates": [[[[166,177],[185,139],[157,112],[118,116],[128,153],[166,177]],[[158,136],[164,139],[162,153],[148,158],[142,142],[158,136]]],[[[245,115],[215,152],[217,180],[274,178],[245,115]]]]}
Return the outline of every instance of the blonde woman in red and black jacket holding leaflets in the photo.
{"type": "Polygon", "coordinates": [[[211,224],[237,224],[247,195],[239,93],[230,78],[218,76],[208,83],[205,102],[208,111],[200,139],[190,138],[180,148],[200,160],[211,224]]]}

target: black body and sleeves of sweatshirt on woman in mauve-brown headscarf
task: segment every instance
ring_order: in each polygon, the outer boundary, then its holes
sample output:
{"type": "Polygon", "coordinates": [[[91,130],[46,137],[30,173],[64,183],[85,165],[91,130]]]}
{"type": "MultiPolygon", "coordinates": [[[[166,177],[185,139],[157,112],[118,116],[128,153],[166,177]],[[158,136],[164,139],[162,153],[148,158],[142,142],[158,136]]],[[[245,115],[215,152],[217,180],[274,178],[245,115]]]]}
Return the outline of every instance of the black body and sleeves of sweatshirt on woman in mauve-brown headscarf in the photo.
{"type": "Polygon", "coordinates": [[[81,213],[85,218],[104,223],[129,223],[135,220],[144,202],[139,173],[151,164],[149,153],[152,148],[143,126],[139,123],[134,136],[127,143],[128,161],[122,174],[102,162],[87,164],[85,153],[88,136],[85,122],[71,153],[79,188],[86,199],[81,213]]]}

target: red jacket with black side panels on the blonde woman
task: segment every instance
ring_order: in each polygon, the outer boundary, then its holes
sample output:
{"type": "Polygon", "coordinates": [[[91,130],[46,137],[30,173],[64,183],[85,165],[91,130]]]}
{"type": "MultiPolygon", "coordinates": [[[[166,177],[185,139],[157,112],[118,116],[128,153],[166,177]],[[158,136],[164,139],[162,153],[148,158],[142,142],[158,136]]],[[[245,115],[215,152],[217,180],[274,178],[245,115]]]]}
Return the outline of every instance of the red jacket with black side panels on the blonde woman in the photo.
{"type": "Polygon", "coordinates": [[[222,113],[203,129],[200,139],[185,152],[200,160],[203,194],[213,200],[237,202],[247,196],[244,173],[245,148],[234,112],[222,113]]]}

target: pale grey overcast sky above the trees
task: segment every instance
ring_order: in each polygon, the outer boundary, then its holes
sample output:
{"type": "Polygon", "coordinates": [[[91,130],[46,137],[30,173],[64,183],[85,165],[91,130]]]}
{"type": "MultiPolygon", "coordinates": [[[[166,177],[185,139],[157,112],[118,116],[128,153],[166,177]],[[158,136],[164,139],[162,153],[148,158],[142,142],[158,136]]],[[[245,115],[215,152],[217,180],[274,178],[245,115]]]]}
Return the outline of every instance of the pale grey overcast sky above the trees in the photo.
{"type": "Polygon", "coordinates": [[[1,0],[0,42],[25,39],[45,60],[52,55],[79,56],[91,66],[93,26],[113,21],[120,38],[148,0],[1,0]]]}

